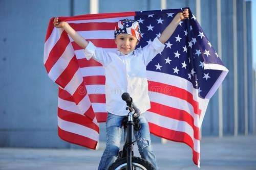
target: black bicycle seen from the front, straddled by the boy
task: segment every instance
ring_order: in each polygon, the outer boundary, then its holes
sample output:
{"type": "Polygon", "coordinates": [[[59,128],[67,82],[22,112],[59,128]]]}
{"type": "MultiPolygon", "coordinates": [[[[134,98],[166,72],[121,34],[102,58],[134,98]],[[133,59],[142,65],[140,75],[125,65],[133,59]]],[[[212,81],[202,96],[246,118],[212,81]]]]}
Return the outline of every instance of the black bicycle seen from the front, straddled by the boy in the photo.
{"type": "Polygon", "coordinates": [[[130,97],[129,93],[122,94],[122,100],[126,102],[126,110],[130,112],[123,119],[122,125],[124,132],[124,145],[122,151],[119,151],[117,160],[108,168],[108,170],[134,170],[134,169],[143,169],[143,170],[155,170],[154,166],[141,157],[135,157],[133,153],[133,145],[140,138],[133,141],[134,129],[139,132],[139,116],[140,110],[133,103],[133,99],[130,97]]]}

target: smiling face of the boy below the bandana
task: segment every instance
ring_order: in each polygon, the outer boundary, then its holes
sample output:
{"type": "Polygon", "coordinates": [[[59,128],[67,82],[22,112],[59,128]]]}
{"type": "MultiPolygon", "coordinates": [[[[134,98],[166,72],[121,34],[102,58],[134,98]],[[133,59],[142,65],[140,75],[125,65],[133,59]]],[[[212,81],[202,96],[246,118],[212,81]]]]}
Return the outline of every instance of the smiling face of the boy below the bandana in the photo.
{"type": "Polygon", "coordinates": [[[136,37],[130,35],[130,34],[119,34],[115,38],[115,43],[117,46],[117,49],[122,54],[129,54],[132,51],[134,51],[136,45],[138,45],[139,41],[136,37]]]}

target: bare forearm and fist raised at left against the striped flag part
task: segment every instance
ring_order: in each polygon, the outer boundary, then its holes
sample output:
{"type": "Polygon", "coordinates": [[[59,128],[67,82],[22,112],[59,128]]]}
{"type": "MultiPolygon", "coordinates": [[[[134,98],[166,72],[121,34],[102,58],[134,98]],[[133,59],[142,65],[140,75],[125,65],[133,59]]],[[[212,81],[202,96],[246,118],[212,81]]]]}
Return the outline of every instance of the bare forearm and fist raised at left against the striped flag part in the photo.
{"type": "Polygon", "coordinates": [[[80,34],[78,34],[72,27],[70,27],[68,22],[58,22],[58,17],[56,17],[53,20],[53,25],[56,28],[64,29],[72,37],[72,39],[83,49],[86,48],[86,46],[88,45],[88,42],[80,34]]]}

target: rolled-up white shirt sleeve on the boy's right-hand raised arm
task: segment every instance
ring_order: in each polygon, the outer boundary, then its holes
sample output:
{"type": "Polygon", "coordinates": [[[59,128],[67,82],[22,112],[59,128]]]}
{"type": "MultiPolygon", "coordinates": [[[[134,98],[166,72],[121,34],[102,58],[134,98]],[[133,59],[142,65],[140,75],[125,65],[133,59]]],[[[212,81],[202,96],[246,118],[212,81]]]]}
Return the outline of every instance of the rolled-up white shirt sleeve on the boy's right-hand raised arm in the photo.
{"type": "Polygon", "coordinates": [[[143,59],[145,65],[147,65],[158,53],[161,53],[164,50],[165,45],[159,41],[156,37],[152,43],[144,46],[142,48],[143,59]]]}

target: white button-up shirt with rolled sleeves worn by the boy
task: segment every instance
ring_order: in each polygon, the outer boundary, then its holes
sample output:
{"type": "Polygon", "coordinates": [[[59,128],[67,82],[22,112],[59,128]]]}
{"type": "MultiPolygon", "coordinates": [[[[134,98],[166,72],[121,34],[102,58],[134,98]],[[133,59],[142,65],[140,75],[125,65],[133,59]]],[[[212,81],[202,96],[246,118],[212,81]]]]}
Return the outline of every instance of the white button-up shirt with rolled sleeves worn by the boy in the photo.
{"type": "Polygon", "coordinates": [[[84,49],[87,60],[92,57],[105,68],[106,111],[115,115],[127,115],[126,103],[122,100],[123,92],[128,92],[141,113],[150,109],[146,65],[165,45],[156,37],[154,41],[140,50],[124,55],[118,50],[107,52],[89,42],[84,49]]]}

